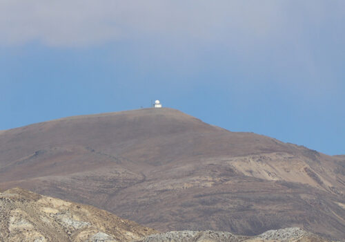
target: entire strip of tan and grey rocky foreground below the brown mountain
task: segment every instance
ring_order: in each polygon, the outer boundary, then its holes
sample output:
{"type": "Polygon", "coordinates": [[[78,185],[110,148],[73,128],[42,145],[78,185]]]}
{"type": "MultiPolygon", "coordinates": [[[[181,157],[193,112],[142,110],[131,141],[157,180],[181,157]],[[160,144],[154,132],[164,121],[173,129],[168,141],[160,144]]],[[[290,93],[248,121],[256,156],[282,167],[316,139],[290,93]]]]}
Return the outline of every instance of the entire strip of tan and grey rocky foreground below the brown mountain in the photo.
{"type": "Polygon", "coordinates": [[[70,203],[15,188],[0,193],[0,241],[326,242],[328,240],[298,227],[270,230],[258,236],[238,236],[229,232],[210,230],[159,233],[89,205],[70,203]]]}

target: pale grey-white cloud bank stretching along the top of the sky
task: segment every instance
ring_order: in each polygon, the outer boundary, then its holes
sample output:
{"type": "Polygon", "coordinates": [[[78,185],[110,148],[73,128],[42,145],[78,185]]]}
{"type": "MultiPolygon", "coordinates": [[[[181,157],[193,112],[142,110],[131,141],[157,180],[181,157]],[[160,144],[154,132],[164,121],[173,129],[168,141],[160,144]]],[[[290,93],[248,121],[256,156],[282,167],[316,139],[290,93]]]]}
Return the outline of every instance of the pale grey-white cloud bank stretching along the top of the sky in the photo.
{"type": "Polygon", "coordinates": [[[284,21],[283,1],[1,0],[0,43],[90,46],[141,37],[266,38],[284,21]]]}

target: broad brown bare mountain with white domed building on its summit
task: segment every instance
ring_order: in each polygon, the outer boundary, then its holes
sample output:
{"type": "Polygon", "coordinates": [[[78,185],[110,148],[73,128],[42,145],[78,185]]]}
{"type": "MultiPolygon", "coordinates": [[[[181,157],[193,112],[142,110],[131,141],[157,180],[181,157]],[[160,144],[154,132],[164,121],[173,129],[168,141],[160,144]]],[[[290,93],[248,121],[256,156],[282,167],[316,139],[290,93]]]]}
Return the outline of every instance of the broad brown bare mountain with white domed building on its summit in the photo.
{"type": "Polygon", "coordinates": [[[175,109],[84,115],[0,133],[0,189],[87,203],[161,231],[345,238],[345,158],[175,109]]]}

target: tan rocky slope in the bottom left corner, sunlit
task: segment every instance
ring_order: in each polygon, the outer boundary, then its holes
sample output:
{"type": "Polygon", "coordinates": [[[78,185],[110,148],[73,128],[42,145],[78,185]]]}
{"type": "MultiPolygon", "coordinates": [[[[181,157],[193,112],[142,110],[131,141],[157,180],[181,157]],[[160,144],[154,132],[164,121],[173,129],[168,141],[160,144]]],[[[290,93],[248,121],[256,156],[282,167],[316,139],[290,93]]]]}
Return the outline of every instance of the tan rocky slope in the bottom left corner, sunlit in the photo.
{"type": "Polygon", "coordinates": [[[132,241],[152,233],[89,205],[19,188],[0,194],[0,241],[132,241]]]}

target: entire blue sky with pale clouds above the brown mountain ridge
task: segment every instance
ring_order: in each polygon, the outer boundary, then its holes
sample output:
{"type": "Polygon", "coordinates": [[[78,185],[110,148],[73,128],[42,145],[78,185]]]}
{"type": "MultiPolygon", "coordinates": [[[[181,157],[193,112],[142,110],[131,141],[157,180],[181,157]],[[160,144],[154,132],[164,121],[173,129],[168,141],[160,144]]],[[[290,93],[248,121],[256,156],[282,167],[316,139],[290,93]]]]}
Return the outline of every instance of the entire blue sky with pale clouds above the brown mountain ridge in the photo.
{"type": "Polygon", "coordinates": [[[345,1],[3,0],[0,130],[159,99],[345,153],[345,1]]]}

